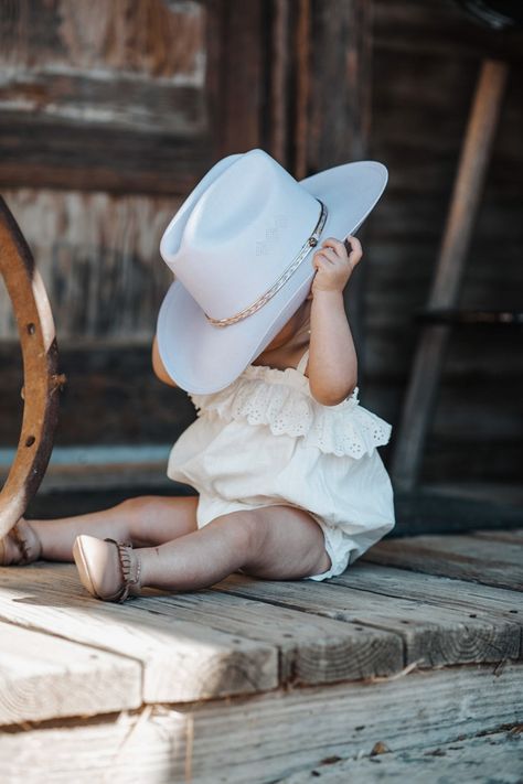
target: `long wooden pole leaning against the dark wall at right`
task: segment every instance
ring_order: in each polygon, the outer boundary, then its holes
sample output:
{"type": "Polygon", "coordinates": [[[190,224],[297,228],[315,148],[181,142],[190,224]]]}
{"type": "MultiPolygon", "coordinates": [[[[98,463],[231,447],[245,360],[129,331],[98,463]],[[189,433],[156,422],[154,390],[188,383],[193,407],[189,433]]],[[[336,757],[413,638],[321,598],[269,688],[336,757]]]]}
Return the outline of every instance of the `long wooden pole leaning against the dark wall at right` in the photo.
{"type": "MultiPolygon", "coordinates": [[[[481,67],[431,284],[430,309],[458,303],[508,69],[505,63],[491,60],[484,61],[481,67]]],[[[450,329],[448,324],[421,329],[391,465],[396,490],[408,492],[417,483],[450,329]]]]}

